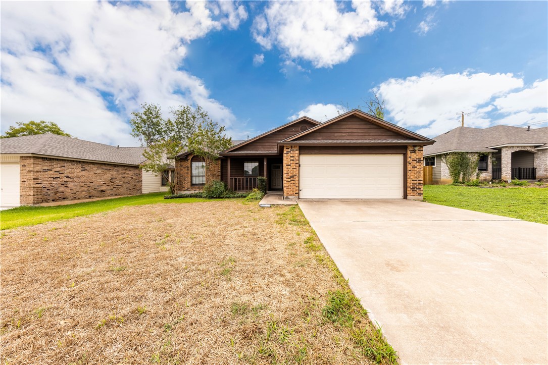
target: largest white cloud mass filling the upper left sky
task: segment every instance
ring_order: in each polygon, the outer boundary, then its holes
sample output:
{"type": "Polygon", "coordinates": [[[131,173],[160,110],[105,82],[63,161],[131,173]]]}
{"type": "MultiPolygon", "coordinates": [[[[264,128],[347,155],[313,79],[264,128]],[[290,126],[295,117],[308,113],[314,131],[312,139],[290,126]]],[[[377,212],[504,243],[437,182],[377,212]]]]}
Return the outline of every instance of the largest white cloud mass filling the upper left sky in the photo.
{"type": "Polygon", "coordinates": [[[196,103],[216,121],[235,117],[201,79],[178,70],[193,39],[247,18],[242,5],[40,2],[2,5],[2,129],[46,120],[78,138],[134,144],[129,113],[141,102],[196,103]],[[102,96],[109,95],[109,105],[102,96]],[[109,110],[110,109],[110,110],[109,110]]]}

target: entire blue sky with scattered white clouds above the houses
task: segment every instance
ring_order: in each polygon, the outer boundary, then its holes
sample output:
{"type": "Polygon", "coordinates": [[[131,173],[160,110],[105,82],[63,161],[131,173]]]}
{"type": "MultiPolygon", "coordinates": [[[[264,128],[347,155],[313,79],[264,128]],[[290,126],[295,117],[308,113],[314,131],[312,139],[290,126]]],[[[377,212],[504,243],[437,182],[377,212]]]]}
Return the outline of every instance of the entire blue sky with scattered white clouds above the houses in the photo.
{"type": "Polygon", "coordinates": [[[130,112],[198,104],[236,139],[372,90],[427,136],[545,126],[547,2],[2,3],[2,130],[135,145],[130,112]]]}

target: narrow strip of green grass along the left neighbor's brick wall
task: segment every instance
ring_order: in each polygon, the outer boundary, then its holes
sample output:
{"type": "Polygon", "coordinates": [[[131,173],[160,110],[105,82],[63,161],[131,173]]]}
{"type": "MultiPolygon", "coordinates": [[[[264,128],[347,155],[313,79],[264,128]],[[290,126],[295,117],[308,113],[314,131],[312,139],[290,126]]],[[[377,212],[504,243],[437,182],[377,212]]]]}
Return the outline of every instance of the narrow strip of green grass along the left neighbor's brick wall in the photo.
{"type": "Polygon", "coordinates": [[[163,203],[196,203],[207,202],[203,198],[164,199],[164,193],[150,193],[123,198],[105,199],[95,202],[68,204],[55,207],[24,206],[0,211],[0,229],[6,230],[21,226],[33,226],[75,216],[107,212],[119,207],[144,206],[163,203]]]}

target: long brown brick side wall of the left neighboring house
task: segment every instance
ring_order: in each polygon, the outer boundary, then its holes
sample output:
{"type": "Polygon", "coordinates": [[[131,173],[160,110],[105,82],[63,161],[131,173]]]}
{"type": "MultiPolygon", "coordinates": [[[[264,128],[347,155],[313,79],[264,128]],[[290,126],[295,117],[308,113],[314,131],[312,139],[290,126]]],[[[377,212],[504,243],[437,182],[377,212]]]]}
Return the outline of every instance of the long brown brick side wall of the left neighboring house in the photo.
{"type": "Polygon", "coordinates": [[[21,156],[23,205],[136,195],[142,172],[135,166],[21,156]]]}

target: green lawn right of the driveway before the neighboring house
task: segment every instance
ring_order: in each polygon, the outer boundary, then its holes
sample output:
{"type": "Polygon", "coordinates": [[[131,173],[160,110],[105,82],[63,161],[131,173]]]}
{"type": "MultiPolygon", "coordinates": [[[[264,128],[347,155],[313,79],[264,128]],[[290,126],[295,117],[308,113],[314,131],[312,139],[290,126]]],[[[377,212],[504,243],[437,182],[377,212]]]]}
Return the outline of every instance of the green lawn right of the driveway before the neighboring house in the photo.
{"type": "Polygon", "coordinates": [[[454,185],[425,185],[424,200],[442,206],[548,224],[548,188],[544,187],[486,189],[454,185]]]}

